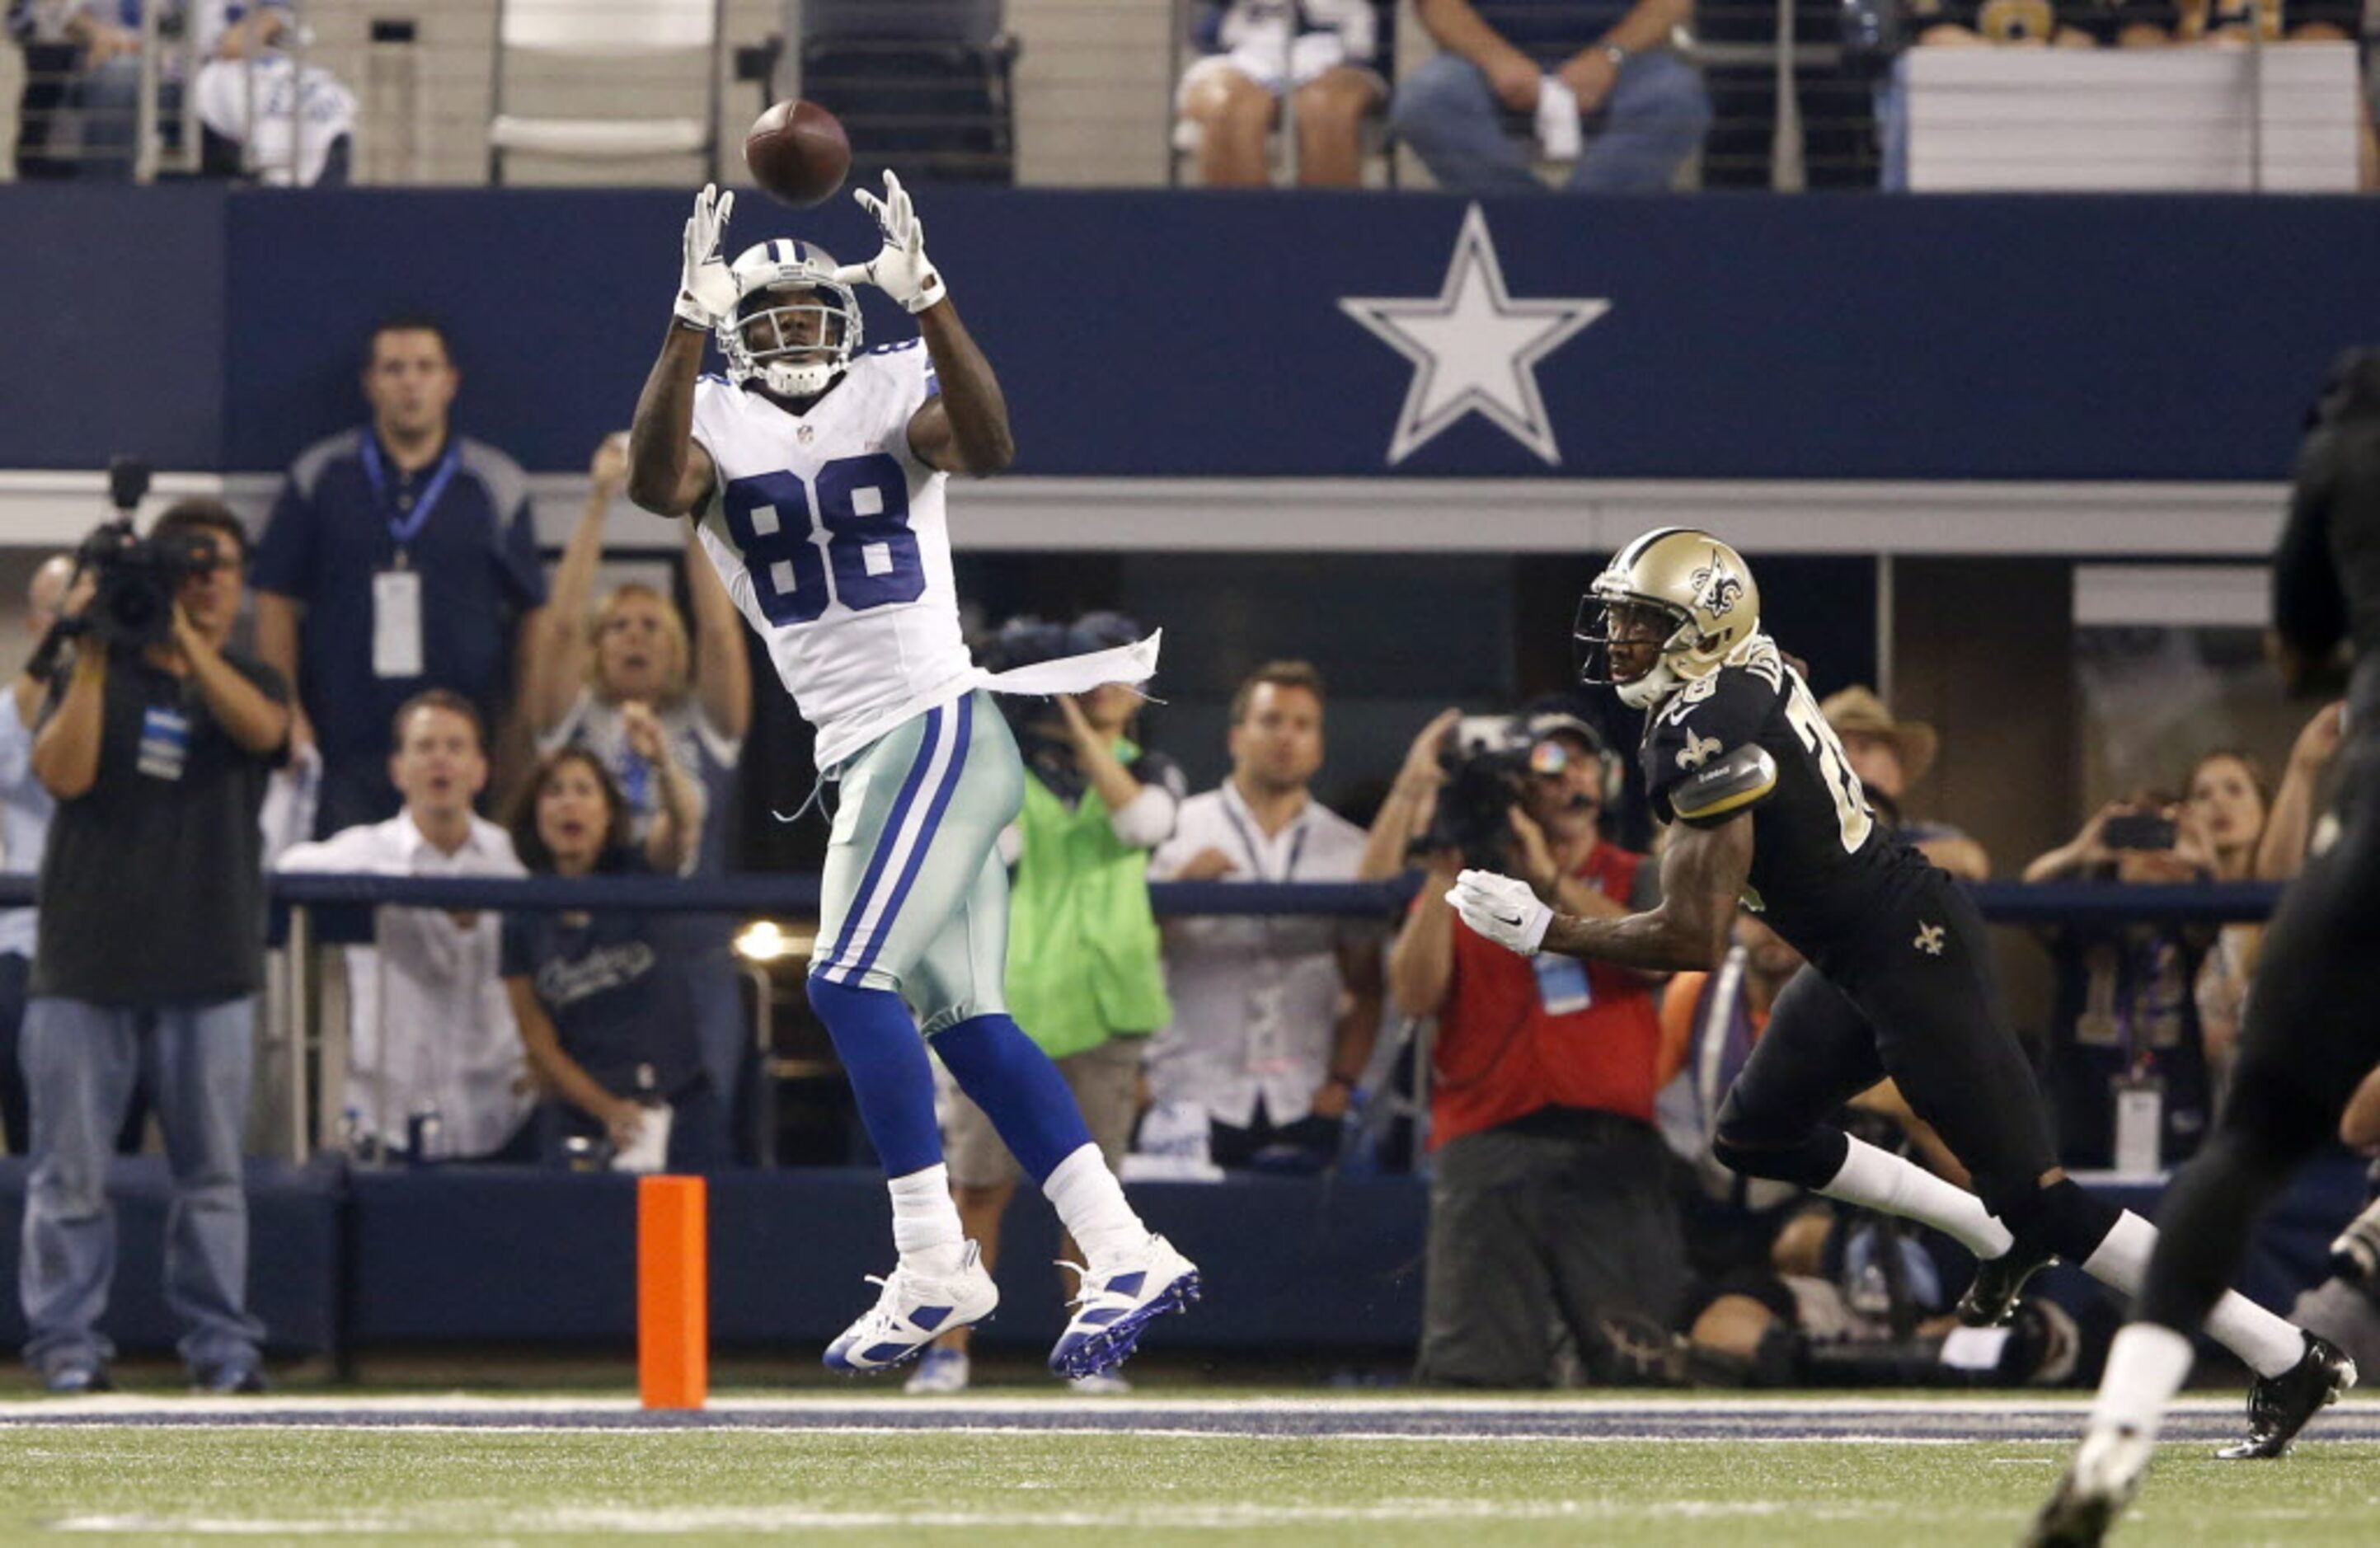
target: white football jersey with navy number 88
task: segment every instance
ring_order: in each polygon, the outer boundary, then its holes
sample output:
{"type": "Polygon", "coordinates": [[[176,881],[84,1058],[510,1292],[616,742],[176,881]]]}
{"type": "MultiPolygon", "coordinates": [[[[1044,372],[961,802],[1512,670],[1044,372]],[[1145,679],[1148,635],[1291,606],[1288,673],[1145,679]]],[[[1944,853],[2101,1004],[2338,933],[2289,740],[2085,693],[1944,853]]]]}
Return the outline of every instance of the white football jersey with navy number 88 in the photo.
{"type": "Polygon", "coordinates": [[[819,730],[819,768],[983,682],[959,633],[950,478],[909,449],[935,392],[914,338],[852,359],[809,414],[695,383],[695,440],[719,466],[702,547],[819,730]]]}

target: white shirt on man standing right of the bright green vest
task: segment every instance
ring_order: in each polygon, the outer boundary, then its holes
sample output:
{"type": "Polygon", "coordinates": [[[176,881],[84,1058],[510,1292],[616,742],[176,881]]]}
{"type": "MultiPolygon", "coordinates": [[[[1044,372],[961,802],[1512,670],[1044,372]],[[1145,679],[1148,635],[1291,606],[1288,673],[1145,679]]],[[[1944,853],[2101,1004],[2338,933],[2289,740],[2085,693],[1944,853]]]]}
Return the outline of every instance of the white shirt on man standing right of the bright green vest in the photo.
{"type": "MultiPolygon", "coordinates": [[[[1223,782],[1183,801],[1173,837],[1150,858],[1164,882],[1204,849],[1221,849],[1228,882],[1352,882],[1364,830],[1307,799],[1266,835],[1240,792],[1223,782]]],[[[1340,1006],[1338,949],[1378,932],[1321,915],[1204,915],[1166,920],[1166,994],[1173,1020],[1150,1039],[1150,1096],[1195,1101],[1216,1122],[1245,1129],[1264,1115],[1297,1122],[1330,1075],[1340,1006]]]]}

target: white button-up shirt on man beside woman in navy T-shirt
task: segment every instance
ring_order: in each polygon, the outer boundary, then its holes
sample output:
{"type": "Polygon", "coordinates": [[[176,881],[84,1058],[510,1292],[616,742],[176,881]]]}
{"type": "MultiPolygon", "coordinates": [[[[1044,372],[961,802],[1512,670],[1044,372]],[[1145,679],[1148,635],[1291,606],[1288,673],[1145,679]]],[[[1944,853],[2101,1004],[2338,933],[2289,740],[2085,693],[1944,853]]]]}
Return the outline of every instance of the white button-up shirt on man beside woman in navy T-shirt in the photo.
{"type": "MultiPolygon", "coordinates": [[[[295,844],[278,870],[364,875],[528,875],[512,837],[471,818],[445,854],[397,813],[295,844]]],[[[347,1108],[364,1137],[402,1146],[407,1118],[438,1113],[436,1158],[486,1156],[528,1115],[528,1051],[500,975],[502,920],[469,927],[443,908],[381,908],[376,946],[347,946],[347,1108]],[[381,1037],[383,1025],[388,1037],[381,1037]]]]}

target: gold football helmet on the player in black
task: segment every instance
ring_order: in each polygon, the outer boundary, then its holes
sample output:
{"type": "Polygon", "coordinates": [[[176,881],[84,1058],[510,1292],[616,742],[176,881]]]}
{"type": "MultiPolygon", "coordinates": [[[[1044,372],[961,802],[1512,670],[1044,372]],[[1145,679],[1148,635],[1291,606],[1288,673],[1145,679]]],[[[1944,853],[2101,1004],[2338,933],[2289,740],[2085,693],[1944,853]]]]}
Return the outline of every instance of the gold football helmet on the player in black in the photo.
{"type": "Polygon", "coordinates": [[[1745,556],[1695,528],[1654,528],[1604,566],[1578,599],[1573,640],[1580,647],[1578,680],[1611,685],[1621,704],[1652,709],[1673,692],[1709,678],[1737,644],[1761,628],[1761,587],[1745,556]],[[1666,621],[1659,656],[1645,671],[1618,675],[1611,647],[1645,644],[1642,623],[1623,635],[1626,621],[1645,609],[1666,621]]]}

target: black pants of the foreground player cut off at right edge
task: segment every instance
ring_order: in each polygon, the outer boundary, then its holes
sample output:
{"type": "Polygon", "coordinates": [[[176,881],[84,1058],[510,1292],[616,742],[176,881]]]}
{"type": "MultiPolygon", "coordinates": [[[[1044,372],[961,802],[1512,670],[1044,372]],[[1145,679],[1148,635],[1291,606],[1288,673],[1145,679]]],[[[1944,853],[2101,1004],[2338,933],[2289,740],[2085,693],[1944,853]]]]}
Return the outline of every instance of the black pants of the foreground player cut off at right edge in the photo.
{"type": "Polygon", "coordinates": [[[2194,1329],[2247,1234],[2380,1063],[2380,735],[2340,754],[2340,837],[2282,896],[2256,963],[2230,1101],[2156,1215],[2137,1315],[2194,1329]]]}

